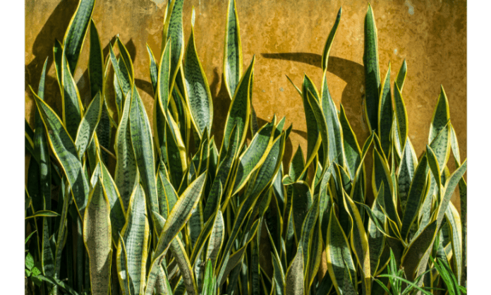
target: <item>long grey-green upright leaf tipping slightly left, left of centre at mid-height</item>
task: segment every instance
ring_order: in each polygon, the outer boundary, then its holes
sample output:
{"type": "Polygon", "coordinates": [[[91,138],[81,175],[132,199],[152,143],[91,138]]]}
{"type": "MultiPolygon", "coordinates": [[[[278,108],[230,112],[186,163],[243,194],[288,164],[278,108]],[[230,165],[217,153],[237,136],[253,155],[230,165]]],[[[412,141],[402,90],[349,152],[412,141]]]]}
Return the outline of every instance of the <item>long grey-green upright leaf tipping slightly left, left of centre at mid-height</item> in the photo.
{"type": "Polygon", "coordinates": [[[140,181],[147,196],[148,205],[151,211],[159,212],[152,129],[150,128],[150,121],[148,121],[143,101],[135,86],[133,86],[129,123],[131,145],[133,146],[133,152],[135,152],[140,181]]]}

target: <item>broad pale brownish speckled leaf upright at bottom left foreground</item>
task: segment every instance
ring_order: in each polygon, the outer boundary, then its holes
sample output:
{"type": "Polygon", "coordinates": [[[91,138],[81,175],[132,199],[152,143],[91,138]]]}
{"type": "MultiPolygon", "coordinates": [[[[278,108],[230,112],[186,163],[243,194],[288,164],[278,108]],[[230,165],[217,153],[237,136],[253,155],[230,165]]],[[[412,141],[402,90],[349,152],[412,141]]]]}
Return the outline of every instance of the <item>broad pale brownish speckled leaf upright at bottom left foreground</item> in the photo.
{"type": "Polygon", "coordinates": [[[83,219],[83,241],[90,260],[90,286],[92,294],[109,294],[111,276],[111,208],[102,179],[98,179],[83,219]]]}

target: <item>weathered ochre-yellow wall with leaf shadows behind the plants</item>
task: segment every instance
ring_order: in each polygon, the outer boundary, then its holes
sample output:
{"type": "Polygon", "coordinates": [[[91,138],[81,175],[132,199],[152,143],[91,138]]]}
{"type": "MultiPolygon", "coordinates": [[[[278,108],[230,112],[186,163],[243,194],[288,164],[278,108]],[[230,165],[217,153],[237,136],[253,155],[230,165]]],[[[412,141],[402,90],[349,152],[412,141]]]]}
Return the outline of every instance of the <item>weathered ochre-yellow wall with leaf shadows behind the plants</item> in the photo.
{"type": "MultiPolygon", "coordinates": [[[[187,0],[184,4],[185,40],[190,35],[191,7],[195,7],[198,54],[214,97],[217,131],[229,107],[222,85],[225,0],[187,0]]],[[[418,155],[428,144],[433,109],[443,85],[449,98],[451,123],[459,138],[461,157],[467,157],[467,3],[461,0],[369,1],[378,29],[380,73],[391,62],[392,83],[402,61],[408,64],[403,97],[409,115],[409,136],[418,155]]],[[[44,59],[49,56],[47,101],[61,109],[52,63],[54,38],[63,40],[76,0],[25,0],[25,116],[32,122],[32,97],[44,59]]],[[[136,85],[152,116],[152,88],[146,44],[158,55],[166,0],[97,0],[93,19],[104,54],[119,34],[134,62],[136,85]]],[[[301,97],[285,75],[300,86],[303,74],[321,86],[322,49],[339,7],[341,23],[330,52],[327,81],[338,105],[346,109],[358,142],[368,137],[363,119],[363,23],[367,1],[237,0],[243,68],[256,56],[253,104],[260,124],[273,114],[293,123],[286,154],[298,145],[306,150],[306,127],[301,97]]],[[[88,90],[88,37],[75,72],[80,92],[88,90]]],[[[217,134],[221,142],[221,135],[217,134]]]]}

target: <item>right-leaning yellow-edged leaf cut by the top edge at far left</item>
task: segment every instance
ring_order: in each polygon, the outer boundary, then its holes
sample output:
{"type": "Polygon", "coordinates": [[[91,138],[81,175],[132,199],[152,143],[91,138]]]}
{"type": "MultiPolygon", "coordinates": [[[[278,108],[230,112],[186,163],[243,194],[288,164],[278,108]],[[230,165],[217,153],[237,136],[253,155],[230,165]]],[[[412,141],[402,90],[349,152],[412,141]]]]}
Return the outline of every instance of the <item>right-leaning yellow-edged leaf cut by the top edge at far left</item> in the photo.
{"type": "Polygon", "coordinates": [[[80,0],[63,38],[63,48],[66,51],[66,59],[72,75],[75,73],[80,50],[92,17],[92,11],[94,11],[94,4],[95,0],[80,0]]]}

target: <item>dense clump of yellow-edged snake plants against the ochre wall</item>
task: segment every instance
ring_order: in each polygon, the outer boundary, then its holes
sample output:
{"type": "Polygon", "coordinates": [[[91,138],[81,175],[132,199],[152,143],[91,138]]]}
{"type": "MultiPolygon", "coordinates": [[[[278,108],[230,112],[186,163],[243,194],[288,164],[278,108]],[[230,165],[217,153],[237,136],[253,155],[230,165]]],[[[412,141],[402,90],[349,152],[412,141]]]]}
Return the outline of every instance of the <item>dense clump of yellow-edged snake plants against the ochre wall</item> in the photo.
{"type": "MultiPolygon", "coordinates": [[[[25,218],[35,234],[25,265],[36,294],[394,293],[406,283],[389,280],[388,272],[404,275],[416,291],[465,284],[466,223],[450,197],[459,185],[465,215],[467,162],[460,161],[447,96],[442,88],[428,145],[417,157],[401,95],[406,62],[393,88],[390,67],[380,79],[370,6],[363,59],[368,140],[359,145],[329,93],[339,9],[322,53],[320,90],[306,75],[296,88],[306,153],[298,148],[284,167],[292,126],[276,116],[257,124],[255,59],[243,71],[235,0],[224,28],[231,102],[221,143],[194,28],[184,40],[183,0],[169,1],[157,55],[147,46],[152,121],[119,37],[102,53],[94,3],[80,0],[64,39],[54,43],[61,112],[44,101],[47,63],[37,92],[31,88],[36,114],[34,128],[25,123],[25,218]],[[73,73],[87,34],[90,92],[83,97],[73,73]]],[[[193,27],[194,10],[191,18],[193,27]]]]}

